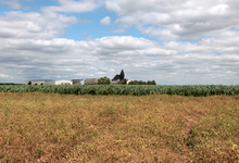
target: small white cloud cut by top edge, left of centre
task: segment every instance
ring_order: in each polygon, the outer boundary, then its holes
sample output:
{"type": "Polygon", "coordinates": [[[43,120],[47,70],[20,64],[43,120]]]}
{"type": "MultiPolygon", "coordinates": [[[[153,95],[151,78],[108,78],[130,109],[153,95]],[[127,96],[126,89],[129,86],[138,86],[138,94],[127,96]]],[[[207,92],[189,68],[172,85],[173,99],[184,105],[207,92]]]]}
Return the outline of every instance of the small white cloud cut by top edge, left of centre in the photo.
{"type": "Polygon", "coordinates": [[[58,7],[46,7],[42,11],[54,11],[54,12],[90,12],[99,8],[102,2],[101,0],[59,0],[60,5],[58,7]]]}

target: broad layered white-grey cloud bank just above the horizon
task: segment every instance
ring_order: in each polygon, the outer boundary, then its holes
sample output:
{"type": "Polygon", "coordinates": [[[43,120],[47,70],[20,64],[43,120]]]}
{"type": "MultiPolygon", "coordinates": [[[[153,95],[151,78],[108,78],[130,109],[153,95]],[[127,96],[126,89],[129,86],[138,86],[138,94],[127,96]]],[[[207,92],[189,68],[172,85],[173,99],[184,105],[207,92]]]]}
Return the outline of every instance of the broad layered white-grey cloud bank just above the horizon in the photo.
{"type": "Polygon", "coordinates": [[[0,45],[0,70],[25,79],[113,78],[124,70],[129,79],[154,79],[158,84],[235,85],[239,80],[238,46],[229,38],[204,38],[194,43],[156,43],[130,36],[87,41],[2,38],[0,45]],[[230,53],[226,47],[231,48],[230,53]],[[215,54],[215,48],[223,53],[215,54]]]}

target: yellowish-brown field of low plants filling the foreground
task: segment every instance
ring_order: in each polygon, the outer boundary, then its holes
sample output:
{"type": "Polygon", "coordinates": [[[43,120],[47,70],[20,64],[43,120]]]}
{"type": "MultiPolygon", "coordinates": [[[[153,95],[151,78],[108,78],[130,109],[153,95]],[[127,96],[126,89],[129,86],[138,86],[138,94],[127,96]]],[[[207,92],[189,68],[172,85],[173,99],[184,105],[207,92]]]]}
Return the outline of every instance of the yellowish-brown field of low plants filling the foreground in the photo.
{"type": "Polygon", "coordinates": [[[0,92],[0,162],[238,162],[239,96],[0,92]]]}

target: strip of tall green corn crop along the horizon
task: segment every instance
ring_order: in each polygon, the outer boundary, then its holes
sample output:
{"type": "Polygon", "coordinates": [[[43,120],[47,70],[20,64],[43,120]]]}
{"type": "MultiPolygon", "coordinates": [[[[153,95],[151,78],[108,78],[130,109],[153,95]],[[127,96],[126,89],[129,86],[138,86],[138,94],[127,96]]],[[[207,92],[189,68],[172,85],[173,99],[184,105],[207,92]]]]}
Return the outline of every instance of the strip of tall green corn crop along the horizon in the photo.
{"type": "Polygon", "coordinates": [[[61,95],[179,95],[206,97],[211,95],[239,95],[239,86],[224,85],[2,85],[1,92],[45,92],[61,95]]]}

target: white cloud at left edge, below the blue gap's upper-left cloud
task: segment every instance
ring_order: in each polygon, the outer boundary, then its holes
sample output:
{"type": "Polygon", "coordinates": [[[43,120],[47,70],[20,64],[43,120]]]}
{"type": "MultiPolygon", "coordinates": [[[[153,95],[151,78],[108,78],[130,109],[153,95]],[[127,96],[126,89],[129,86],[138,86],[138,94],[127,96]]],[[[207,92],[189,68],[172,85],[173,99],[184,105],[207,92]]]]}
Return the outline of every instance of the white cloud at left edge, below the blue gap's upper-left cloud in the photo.
{"type": "Polygon", "coordinates": [[[59,13],[12,11],[0,16],[0,38],[35,38],[51,39],[55,34],[62,34],[71,24],[77,23],[74,16],[59,13]]]}

